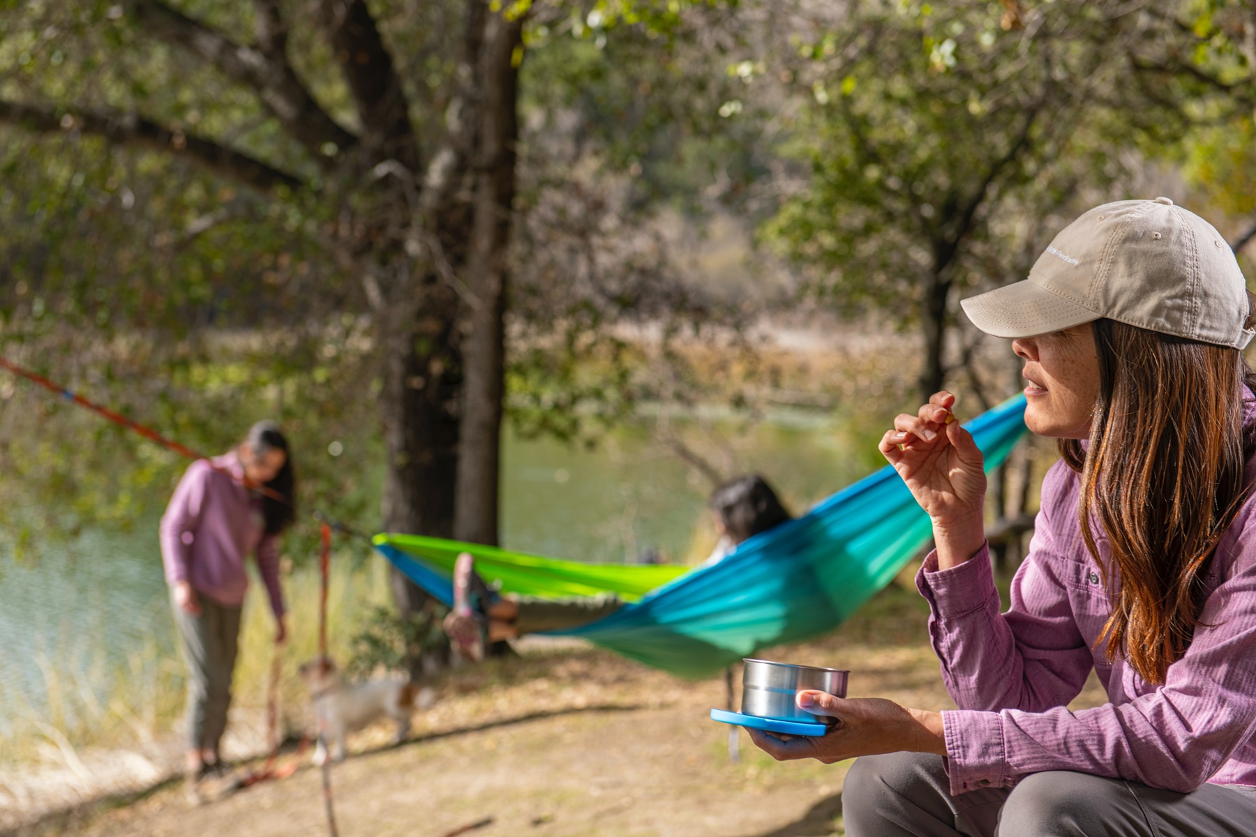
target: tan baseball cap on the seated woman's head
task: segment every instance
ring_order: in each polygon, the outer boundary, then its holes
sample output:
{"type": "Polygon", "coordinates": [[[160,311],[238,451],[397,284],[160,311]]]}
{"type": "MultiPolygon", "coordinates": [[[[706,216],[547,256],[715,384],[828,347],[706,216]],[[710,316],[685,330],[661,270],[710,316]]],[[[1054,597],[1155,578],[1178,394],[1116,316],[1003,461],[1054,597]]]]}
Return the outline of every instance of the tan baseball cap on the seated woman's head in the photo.
{"type": "Polygon", "coordinates": [[[1064,228],[1029,279],[960,302],[996,338],[1100,317],[1242,349],[1247,281],[1216,228],[1167,197],[1098,206],[1064,228]]]}

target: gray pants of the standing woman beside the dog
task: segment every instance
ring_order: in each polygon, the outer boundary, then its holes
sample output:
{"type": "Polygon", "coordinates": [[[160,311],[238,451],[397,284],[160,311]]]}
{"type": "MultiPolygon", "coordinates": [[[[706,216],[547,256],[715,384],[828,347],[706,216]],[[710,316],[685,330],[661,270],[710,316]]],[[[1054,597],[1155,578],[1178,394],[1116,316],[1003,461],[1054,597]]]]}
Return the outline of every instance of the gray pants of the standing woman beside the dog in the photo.
{"type": "Polygon", "coordinates": [[[217,753],[231,708],[240,607],[227,607],[206,596],[200,600],[200,616],[175,605],[175,625],[187,663],[187,748],[217,753]]]}

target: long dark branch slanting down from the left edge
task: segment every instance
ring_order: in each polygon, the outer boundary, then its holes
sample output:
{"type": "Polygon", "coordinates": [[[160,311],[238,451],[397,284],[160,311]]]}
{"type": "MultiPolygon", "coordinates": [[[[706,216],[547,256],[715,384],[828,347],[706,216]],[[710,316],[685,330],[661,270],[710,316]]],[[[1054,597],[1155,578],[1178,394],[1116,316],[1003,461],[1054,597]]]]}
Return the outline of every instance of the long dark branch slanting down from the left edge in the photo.
{"type": "Polygon", "coordinates": [[[43,104],[0,100],[0,123],[41,133],[79,131],[117,146],[160,151],[192,161],[217,174],[271,192],[279,186],[299,187],[301,181],[269,163],[249,157],[212,139],[166,128],[133,113],[64,110],[43,104]]]}

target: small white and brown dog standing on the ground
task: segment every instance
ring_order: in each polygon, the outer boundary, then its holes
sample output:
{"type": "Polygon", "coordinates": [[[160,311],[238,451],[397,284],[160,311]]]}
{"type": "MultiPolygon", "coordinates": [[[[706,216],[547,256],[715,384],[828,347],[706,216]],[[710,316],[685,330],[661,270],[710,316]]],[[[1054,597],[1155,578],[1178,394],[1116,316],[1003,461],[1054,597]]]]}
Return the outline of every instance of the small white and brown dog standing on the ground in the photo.
{"type": "Polygon", "coordinates": [[[345,683],[335,663],[328,658],[310,660],[298,671],[310,689],[319,725],[315,764],[327,760],[330,743],[335,744],[335,760],[343,762],[344,737],[383,715],[397,722],[393,740],[399,744],[409,734],[411,714],[435,703],[431,689],[418,688],[402,676],[345,683]]]}

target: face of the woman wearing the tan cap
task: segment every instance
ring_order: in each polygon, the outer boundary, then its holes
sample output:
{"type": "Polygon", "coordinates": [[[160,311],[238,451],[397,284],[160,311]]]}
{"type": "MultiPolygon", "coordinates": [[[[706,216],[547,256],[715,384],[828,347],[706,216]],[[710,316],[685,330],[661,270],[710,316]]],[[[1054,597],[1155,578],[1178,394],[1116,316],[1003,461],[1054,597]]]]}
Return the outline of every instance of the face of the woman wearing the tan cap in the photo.
{"type": "Polygon", "coordinates": [[[1099,355],[1089,323],[1012,340],[1025,359],[1025,424],[1039,435],[1085,439],[1099,399],[1099,355]]]}

